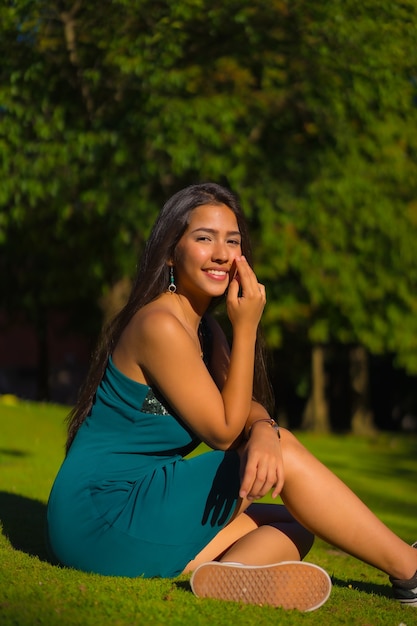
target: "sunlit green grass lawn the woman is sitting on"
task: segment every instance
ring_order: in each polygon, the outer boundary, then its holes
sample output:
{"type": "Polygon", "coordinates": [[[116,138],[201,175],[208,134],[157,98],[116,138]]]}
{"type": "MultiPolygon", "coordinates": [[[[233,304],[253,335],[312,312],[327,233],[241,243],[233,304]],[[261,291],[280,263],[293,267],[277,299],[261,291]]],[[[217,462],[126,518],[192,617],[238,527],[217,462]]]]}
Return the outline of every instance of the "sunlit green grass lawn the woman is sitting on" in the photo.
{"type": "MultiPolygon", "coordinates": [[[[417,611],[390,597],[387,577],[316,541],[308,560],[333,577],[313,613],[215,600],[190,592],[188,577],[127,579],[84,574],[48,561],[46,502],[63,458],[64,407],[0,399],[0,625],[133,626],[283,623],[412,626],[417,611]]],[[[300,435],[406,541],[417,539],[417,438],[380,434],[300,435]]]]}

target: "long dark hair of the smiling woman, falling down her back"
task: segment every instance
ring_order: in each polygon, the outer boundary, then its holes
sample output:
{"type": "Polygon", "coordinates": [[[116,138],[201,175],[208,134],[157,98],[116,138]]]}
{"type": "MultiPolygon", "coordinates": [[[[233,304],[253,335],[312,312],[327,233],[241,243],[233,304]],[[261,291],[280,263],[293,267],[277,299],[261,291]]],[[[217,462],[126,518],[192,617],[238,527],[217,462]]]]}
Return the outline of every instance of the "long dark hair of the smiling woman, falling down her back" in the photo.
{"type": "MultiPolygon", "coordinates": [[[[190,213],[203,204],[225,204],[233,211],[241,234],[242,254],[252,265],[252,251],[246,220],[237,198],[228,189],[216,183],[191,185],[178,191],[164,204],[145,245],[130,297],[123,309],[103,329],[85,384],[80,391],[76,405],[68,415],[67,452],[79,427],[91,410],[108,358],[123,330],[139,309],[167,290],[169,284],[167,261],[174,257],[175,248],[188,226],[190,213]]],[[[259,330],[255,347],[254,397],[268,409],[272,409],[272,392],[265,366],[263,340],[259,330]]]]}

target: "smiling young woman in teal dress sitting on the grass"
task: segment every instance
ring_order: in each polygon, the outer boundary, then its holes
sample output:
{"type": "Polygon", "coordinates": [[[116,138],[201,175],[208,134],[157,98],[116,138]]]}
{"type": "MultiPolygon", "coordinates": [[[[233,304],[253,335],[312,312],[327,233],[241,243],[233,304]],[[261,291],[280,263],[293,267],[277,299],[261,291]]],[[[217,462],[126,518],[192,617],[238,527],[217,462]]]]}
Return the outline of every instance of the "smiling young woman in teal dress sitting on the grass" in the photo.
{"type": "Polygon", "coordinates": [[[85,571],[193,572],[198,596],[313,610],[331,589],[302,561],[318,535],[417,606],[417,550],[270,419],[265,302],[236,198],[212,183],[175,194],[70,414],[52,552],[85,571]],[[230,349],[209,314],[223,297],[230,349]],[[186,458],[201,441],[213,450],[186,458]],[[270,490],[284,505],[254,503],[270,490]]]}

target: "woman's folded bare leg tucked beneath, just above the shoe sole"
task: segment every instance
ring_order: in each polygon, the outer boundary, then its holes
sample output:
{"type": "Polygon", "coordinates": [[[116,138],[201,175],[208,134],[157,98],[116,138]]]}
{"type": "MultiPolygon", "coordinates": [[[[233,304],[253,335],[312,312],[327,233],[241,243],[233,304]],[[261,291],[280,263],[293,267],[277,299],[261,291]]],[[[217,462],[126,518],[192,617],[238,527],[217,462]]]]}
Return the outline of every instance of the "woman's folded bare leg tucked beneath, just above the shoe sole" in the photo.
{"type": "Polygon", "coordinates": [[[191,572],[201,563],[214,560],[248,565],[298,561],[304,558],[313,541],[311,533],[285,506],[251,504],[203,548],[184,572],[191,572]]]}

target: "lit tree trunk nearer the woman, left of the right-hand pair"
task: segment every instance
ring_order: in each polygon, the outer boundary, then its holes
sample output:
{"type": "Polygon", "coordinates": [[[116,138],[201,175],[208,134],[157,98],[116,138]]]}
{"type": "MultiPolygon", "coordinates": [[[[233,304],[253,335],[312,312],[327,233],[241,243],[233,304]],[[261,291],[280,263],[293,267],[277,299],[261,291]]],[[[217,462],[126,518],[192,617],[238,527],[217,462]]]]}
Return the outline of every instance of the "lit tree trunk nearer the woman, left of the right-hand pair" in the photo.
{"type": "Polygon", "coordinates": [[[315,432],[329,432],[329,406],[326,397],[326,374],[324,368],[325,348],[316,344],[311,353],[312,389],[303,415],[302,427],[315,432]]]}

